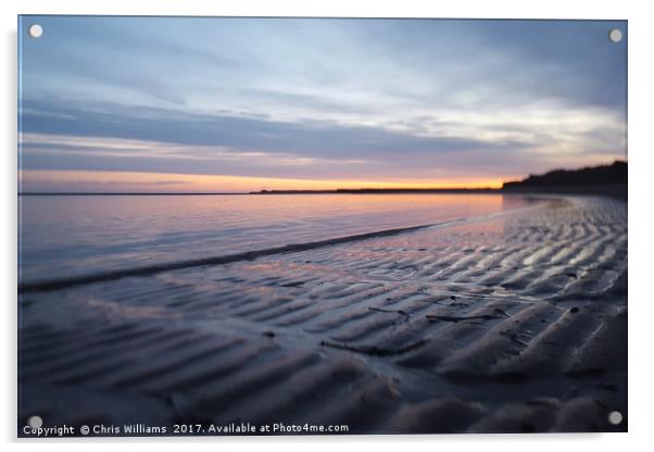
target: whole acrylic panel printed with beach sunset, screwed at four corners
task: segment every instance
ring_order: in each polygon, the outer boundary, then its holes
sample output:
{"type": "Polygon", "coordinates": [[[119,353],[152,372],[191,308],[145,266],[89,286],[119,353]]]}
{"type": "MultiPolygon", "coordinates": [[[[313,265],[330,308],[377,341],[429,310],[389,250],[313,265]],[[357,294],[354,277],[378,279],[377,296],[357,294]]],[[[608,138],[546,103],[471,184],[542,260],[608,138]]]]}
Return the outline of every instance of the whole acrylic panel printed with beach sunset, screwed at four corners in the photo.
{"type": "Polygon", "coordinates": [[[626,431],[627,22],[18,17],[21,437],[626,431]]]}

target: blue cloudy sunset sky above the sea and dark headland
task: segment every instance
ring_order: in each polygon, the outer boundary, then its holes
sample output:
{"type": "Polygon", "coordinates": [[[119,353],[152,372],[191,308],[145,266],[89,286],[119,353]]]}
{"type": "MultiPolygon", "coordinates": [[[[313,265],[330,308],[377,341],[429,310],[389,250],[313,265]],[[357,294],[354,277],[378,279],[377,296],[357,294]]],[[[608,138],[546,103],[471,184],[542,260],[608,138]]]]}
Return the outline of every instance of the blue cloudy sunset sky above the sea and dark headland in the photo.
{"type": "Polygon", "coordinates": [[[18,27],[22,192],[498,187],[626,159],[621,21],[18,27]]]}

